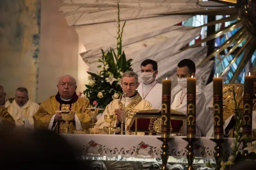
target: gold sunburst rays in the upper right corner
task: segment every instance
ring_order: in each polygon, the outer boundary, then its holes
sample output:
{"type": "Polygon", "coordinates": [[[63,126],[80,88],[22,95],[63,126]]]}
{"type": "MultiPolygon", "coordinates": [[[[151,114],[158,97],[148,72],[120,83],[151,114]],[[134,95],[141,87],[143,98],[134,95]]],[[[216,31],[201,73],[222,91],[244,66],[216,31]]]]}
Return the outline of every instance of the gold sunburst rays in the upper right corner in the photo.
{"type": "MultiPolygon", "coordinates": [[[[239,45],[242,46],[239,47],[240,49],[236,52],[234,58],[229,61],[228,66],[223,70],[221,73],[221,76],[225,75],[228,70],[230,69],[230,66],[234,62],[237,61],[237,59],[241,56],[241,61],[237,65],[236,70],[234,71],[234,74],[230,80],[229,83],[236,82],[236,80],[239,77],[239,74],[243,71],[243,68],[246,66],[246,63],[250,61],[252,58],[253,52],[256,50],[256,3],[250,1],[249,3],[246,3],[246,1],[235,1],[235,0],[211,0],[214,2],[222,3],[227,6],[219,7],[219,8],[201,8],[200,10],[195,11],[180,11],[180,12],[170,12],[170,13],[161,13],[162,15],[228,15],[229,17],[220,19],[220,20],[214,20],[213,22],[208,22],[207,24],[204,24],[203,26],[212,26],[215,24],[225,23],[228,21],[233,21],[232,24],[229,26],[223,27],[219,31],[216,31],[215,33],[212,33],[211,35],[207,35],[206,38],[203,40],[196,42],[195,44],[188,46],[182,50],[179,50],[178,52],[175,52],[171,55],[178,54],[180,52],[183,52],[184,50],[191,49],[193,47],[197,47],[201,43],[207,42],[209,40],[212,40],[214,38],[217,38],[219,36],[224,35],[225,33],[228,33],[230,31],[233,31],[234,29],[239,29],[234,35],[230,36],[220,47],[218,47],[212,54],[207,56],[201,63],[202,65],[205,62],[212,59],[214,56],[219,56],[221,52],[223,52],[225,49],[226,54],[223,58],[220,59],[218,63],[216,63],[216,66],[223,61],[223,59],[227,58],[230,54],[232,54],[234,51],[237,51],[239,45]]],[[[192,29],[195,29],[197,27],[193,27],[192,29]]],[[[234,54],[234,53],[233,53],[234,54]]]]}

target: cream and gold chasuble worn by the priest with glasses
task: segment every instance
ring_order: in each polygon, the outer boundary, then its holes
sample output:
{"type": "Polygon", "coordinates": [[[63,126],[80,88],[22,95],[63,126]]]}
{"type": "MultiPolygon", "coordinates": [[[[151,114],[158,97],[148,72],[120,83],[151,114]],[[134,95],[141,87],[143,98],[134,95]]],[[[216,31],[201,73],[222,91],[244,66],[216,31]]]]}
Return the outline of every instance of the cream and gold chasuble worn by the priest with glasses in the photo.
{"type": "Polygon", "coordinates": [[[125,131],[127,132],[127,127],[130,125],[131,120],[136,112],[150,110],[153,109],[153,107],[150,102],[143,100],[139,93],[131,98],[125,98],[122,96],[121,98],[115,99],[107,105],[102,116],[100,116],[99,120],[97,121],[95,128],[108,127],[108,123],[106,123],[104,120],[104,115],[115,114],[115,109],[121,109],[123,111],[125,110],[125,131]]]}

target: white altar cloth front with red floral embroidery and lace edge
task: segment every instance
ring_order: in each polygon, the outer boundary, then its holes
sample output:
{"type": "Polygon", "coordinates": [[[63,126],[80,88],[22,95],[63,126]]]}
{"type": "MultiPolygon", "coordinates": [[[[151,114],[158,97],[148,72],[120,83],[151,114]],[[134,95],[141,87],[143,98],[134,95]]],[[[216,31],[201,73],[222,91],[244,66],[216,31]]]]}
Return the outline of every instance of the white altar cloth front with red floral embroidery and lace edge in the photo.
{"type": "MultiPolygon", "coordinates": [[[[77,156],[86,160],[127,160],[161,162],[160,136],[150,135],[87,135],[62,134],[71,144],[78,147],[77,156]]],[[[214,162],[214,146],[209,137],[200,137],[195,143],[195,164],[214,162]]],[[[223,143],[223,154],[230,154],[233,138],[223,143]]],[[[188,142],[176,136],[168,144],[170,157],[168,162],[187,163],[186,146],[188,142]]]]}

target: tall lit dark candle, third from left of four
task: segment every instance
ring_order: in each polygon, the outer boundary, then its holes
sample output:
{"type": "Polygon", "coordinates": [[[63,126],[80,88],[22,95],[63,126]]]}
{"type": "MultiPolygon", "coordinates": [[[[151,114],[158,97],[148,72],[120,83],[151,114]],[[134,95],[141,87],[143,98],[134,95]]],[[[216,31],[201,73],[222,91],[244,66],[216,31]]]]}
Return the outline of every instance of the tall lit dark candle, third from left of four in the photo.
{"type": "Polygon", "coordinates": [[[223,92],[221,77],[213,78],[214,138],[223,138],[223,92]]]}

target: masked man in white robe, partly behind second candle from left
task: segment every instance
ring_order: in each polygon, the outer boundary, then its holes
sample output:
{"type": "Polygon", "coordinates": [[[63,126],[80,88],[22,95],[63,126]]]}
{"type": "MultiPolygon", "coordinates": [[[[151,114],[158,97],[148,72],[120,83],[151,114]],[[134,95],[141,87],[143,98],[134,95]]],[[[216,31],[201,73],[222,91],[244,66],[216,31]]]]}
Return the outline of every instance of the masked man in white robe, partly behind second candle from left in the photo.
{"type": "MultiPolygon", "coordinates": [[[[182,90],[175,95],[171,108],[187,114],[187,77],[195,77],[196,67],[191,59],[182,59],[177,65],[178,84],[182,90]]],[[[205,136],[205,119],[207,116],[204,92],[196,85],[196,135],[205,136]]],[[[185,123],[186,134],[186,123],[185,123]]]]}

